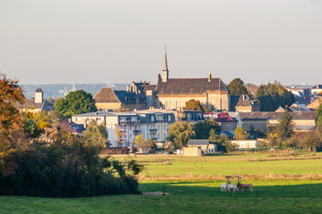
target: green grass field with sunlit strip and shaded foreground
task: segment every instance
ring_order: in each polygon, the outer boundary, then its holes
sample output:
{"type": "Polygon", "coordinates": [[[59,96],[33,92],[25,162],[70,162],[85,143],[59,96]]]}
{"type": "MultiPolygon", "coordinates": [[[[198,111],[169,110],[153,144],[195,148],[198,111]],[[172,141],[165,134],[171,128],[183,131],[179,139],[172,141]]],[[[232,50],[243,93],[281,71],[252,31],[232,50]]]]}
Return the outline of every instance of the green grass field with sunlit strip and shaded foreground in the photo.
{"type": "MultiPolygon", "coordinates": [[[[320,213],[321,153],[239,153],[208,157],[137,156],[142,192],[47,199],[0,196],[0,213],[320,213]],[[221,193],[225,175],[242,175],[253,193],[221,193]]],[[[124,160],[128,157],[115,156],[124,160]]]]}

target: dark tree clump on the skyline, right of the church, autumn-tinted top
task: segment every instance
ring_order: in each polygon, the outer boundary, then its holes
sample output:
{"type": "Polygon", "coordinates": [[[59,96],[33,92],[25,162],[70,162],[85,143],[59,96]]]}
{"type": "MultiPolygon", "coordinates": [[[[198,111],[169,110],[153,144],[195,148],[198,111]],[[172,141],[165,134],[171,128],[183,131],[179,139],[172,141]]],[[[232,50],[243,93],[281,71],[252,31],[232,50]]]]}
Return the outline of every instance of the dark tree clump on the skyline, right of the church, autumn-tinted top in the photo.
{"type": "Polygon", "coordinates": [[[257,99],[260,111],[275,111],[279,106],[292,105],[295,97],[284,86],[276,82],[258,87],[257,99]]]}

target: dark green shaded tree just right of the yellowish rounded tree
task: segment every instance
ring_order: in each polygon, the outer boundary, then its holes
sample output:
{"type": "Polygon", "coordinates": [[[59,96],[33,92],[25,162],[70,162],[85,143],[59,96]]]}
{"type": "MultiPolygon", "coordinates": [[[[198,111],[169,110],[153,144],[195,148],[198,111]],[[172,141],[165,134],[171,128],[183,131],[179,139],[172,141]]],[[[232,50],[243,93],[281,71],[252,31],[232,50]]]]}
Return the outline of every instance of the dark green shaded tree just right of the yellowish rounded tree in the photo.
{"type": "Polygon", "coordinates": [[[197,122],[193,125],[193,130],[197,139],[208,139],[212,129],[214,129],[215,132],[221,131],[216,119],[206,119],[203,122],[197,122]]]}

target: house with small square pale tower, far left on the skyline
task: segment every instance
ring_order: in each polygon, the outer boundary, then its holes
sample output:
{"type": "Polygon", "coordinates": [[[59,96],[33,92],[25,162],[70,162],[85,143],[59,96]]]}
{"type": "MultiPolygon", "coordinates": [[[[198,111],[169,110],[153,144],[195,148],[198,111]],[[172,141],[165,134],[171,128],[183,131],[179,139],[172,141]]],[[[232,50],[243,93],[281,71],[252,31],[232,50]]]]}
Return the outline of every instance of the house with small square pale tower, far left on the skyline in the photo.
{"type": "Polygon", "coordinates": [[[40,86],[38,86],[34,95],[34,98],[27,99],[25,103],[18,105],[18,109],[20,109],[21,111],[32,112],[54,110],[54,104],[44,100],[44,92],[41,90],[40,86]]]}

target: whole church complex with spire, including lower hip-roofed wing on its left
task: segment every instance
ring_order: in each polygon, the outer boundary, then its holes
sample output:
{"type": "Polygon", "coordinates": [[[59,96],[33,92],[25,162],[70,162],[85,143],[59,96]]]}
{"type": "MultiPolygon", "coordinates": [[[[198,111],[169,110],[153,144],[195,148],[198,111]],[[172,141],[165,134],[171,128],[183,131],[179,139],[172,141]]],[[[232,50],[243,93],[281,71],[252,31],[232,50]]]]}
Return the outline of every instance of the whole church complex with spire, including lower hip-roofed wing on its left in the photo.
{"type": "Polygon", "coordinates": [[[169,78],[166,50],[162,76],[157,85],[132,82],[125,90],[102,88],[94,97],[97,109],[144,110],[149,108],[181,110],[189,100],[199,100],[211,111],[230,111],[230,95],[220,78],[169,78]]]}

